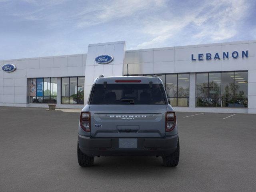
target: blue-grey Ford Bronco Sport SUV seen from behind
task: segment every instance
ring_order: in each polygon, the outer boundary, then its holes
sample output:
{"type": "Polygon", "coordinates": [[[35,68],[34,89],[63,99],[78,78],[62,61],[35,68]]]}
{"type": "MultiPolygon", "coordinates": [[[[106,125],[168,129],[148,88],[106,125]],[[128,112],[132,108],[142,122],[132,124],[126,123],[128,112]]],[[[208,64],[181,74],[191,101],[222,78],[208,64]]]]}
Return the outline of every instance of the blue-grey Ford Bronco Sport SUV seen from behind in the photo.
{"type": "Polygon", "coordinates": [[[78,126],[78,163],[94,156],[162,156],[177,166],[180,148],[174,109],[163,82],[153,77],[102,77],[94,80],[78,126]]]}

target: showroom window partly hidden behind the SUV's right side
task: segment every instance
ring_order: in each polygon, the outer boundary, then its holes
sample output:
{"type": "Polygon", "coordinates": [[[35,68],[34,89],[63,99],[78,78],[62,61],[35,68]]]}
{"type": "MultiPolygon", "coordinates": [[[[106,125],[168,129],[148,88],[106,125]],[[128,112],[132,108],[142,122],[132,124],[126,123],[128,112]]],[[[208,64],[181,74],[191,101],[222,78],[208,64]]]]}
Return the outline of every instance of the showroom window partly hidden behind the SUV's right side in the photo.
{"type": "MultiPolygon", "coordinates": [[[[133,75],[133,76],[149,76],[133,75]]],[[[186,74],[156,74],[164,83],[169,103],[172,106],[189,106],[189,73],[186,74]]]]}

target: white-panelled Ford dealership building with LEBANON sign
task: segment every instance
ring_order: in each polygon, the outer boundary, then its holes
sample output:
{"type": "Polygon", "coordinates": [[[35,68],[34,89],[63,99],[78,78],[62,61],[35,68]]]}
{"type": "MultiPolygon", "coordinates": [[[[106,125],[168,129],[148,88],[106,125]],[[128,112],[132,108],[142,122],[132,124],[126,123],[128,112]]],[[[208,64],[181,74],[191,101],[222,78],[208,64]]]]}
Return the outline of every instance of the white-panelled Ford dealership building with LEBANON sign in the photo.
{"type": "Polygon", "coordinates": [[[87,54],[0,61],[0,106],[82,108],[103,76],[162,79],[176,111],[256,114],[256,40],[126,50],[90,44],[87,54]]]}

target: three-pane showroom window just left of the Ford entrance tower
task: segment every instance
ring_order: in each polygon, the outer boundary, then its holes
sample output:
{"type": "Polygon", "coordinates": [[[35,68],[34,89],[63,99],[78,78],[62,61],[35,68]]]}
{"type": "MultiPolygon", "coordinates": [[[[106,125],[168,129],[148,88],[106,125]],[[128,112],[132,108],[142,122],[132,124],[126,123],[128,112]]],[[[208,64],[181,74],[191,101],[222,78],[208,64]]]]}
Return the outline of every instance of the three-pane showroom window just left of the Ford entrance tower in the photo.
{"type": "Polygon", "coordinates": [[[84,104],[84,77],[61,78],[61,103],[84,104]]]}

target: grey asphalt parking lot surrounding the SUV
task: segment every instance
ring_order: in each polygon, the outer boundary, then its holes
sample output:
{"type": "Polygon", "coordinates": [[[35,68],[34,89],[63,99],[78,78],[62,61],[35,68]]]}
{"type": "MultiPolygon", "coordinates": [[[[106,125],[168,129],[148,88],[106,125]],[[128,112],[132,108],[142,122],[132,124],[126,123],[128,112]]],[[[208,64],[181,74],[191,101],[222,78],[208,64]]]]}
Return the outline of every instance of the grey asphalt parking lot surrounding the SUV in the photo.
{"type": "Polygon", "coordinates": [[[177,112],[180,162],[96,157],[77,162],[79,113],[0,107],[0,191],[256,190],[256,115],[177,112]]]}

